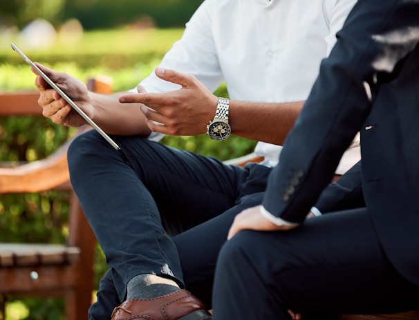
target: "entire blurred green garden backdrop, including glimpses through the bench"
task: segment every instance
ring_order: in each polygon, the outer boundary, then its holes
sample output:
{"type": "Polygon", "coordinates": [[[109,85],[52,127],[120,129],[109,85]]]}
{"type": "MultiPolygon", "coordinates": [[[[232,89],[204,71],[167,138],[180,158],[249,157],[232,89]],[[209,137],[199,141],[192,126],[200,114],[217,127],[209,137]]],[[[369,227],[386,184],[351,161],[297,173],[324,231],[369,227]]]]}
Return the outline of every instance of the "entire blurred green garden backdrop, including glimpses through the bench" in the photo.
{"type": "MultiPolygon", "coordinates": [[[[105,75],[114,91],[134,88],[180,39],[202,1],[0,0],[0,93],[35,90],[34,75],[10,42],[32,61],[81,81],[105,75]]],[[[228,96],[224,85],[215,93],[228,96]]],[[[74,133],[42,117],[0,118],[0,161],[44,159],[74,133]]],[[[255,144],[236,136],[212,141],[206,134],[165,137],[162,143],[221,160],[247,154],[255,144]]],[[[0,242],[62,243],[67,212],[63,192],[3,196],[0,242]]],[[[97,288],[106,264],[99,246],[96,255],[97,288]]],[[[7,320],[64,319],[64,304],[57,299],[8,297],[7,308],[7,320]]]]}

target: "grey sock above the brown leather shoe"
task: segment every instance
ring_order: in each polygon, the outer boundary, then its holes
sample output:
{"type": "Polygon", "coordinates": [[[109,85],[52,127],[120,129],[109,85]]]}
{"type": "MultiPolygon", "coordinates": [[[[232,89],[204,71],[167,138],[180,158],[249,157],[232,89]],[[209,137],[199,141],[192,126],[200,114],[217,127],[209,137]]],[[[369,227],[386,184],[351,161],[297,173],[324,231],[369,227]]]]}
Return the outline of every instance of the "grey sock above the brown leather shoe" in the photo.
{"type": "Polygon", "coordinates": [[[156,274],[140,274],[127,284],[127,299],[149,299],[180,290],[171,279],[156,274]]]}

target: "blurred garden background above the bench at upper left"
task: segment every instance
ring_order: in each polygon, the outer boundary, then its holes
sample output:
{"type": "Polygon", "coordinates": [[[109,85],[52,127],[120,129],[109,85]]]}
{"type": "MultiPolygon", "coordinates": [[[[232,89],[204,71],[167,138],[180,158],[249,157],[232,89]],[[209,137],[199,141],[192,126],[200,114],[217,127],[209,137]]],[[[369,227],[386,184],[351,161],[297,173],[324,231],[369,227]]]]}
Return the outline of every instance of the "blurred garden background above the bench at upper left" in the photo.
{"type": "Polygon", "coordinates": [[[136,86],[148,74],[143,70],[152,69],[180,38],[201,2],[0,0],[0,90],[33,88],[31,77],[12,72],[10,79],[3,69],[24,66],[10,50],[11,41],[32,60],[75,71],[75,76],[104,72],[113,77],[115,90],[136,86]]]}

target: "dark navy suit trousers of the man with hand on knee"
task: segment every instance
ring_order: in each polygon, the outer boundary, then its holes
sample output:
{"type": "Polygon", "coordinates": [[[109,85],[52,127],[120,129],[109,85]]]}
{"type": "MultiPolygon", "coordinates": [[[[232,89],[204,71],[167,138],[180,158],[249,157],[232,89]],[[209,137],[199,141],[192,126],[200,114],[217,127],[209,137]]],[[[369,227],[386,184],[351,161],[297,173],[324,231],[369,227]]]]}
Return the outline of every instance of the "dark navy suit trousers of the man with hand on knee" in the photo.
{"type": "MultiPolygon", "coordinates": [[[[418,270],[419,272],[419,270],[418,270]]],[[[214,320],[335,319],[418,308],[419,288],[391,266],[366,208],[307,219],[286,232],[239,232],[221,249],[214,320]]]]}

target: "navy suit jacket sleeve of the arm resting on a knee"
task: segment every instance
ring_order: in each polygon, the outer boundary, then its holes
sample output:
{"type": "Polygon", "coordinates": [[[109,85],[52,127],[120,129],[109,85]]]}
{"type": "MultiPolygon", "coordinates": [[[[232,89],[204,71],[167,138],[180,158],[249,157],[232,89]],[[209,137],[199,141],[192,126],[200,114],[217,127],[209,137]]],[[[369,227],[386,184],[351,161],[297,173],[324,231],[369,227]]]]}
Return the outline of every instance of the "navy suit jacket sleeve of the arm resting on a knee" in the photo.
{"type": "MultiPolygon", "coordinates": [[[[380,90],[419,41],[419,2],[358,1],[268,179],[263,207],[300,223],[328,185],[380,90]]],[[[361,139],[362,143],[362,139],[361,139]]]]}

